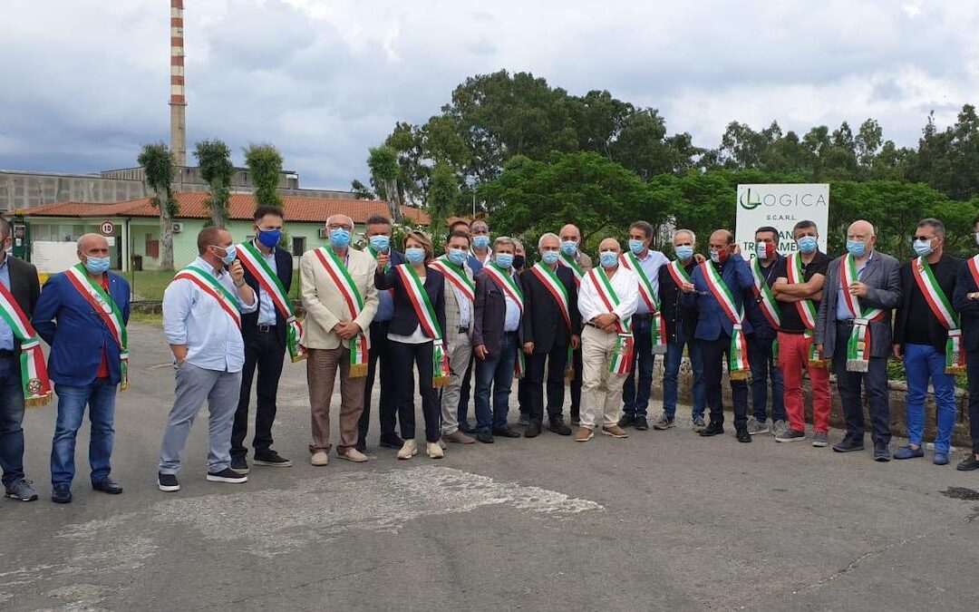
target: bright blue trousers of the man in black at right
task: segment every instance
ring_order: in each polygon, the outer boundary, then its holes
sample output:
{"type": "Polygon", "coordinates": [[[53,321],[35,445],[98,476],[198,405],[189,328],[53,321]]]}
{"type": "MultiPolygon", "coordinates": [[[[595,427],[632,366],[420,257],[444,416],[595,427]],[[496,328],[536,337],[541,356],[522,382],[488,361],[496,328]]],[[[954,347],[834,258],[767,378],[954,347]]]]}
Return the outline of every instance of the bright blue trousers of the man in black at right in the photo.
{"type": "Polygon", "coordinates": [[[952,430],[956,427],[956,377],[945,373],[945,353],[929,345],[905,345],[905,371],[908,374],[908,438],[915,447],[924,436],[924,399],[928,379],[935,388],[938,404],[938,433],[935,451],[948,452],[952,430]]]}

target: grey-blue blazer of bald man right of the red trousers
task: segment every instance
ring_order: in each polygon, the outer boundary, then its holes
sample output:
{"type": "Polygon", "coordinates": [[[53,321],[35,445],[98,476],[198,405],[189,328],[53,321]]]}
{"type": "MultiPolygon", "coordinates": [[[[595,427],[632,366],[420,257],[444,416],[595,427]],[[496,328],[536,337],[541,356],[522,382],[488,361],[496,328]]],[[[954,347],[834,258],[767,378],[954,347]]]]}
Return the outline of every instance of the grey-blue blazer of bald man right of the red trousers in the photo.
{"type": "MultiPolygon", "coordinates": [[[[845,257],[845,256],[844,256],[845,257]]],[[[816,319],[816,344],[822,345],[822,353],[832,358],[836,350],[836,303],[840,288],[840,262],[833,259],[826,269],[826,282],[822,285],[822,301],[816,319]]],[[[892,310],[901,304],[901,263],[889,255],[877,251],[866,262],[861,281],[867,286],[867,294],[858,302],[861,307],[884,308],[884,319],[870,323],[871,357],[886,358],[892,352],[892,310]]],[[[842,347],[841,351],[846,351],[842,347]]]]}

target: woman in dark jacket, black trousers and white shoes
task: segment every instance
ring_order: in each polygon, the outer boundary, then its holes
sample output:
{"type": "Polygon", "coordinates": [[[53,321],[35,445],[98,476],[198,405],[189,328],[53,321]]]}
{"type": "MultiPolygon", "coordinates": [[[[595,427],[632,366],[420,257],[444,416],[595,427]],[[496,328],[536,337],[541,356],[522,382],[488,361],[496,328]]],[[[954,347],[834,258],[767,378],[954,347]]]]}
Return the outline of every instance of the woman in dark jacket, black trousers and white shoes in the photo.
{"type": "Polygon", "coordinates": [[[426,450],[432,458],[444,456],[439,445],[442,413],[436,387],[448,384],[450,376],[443,331],[445,285],[443,274],[426,265],[432,255],[432,240],[421,232],[411,231],[404,239],[407,263],[392,266],[385,272],[383,258],[378,259],[377,288],[395,290],[395,313],[388,325],[388,340],[394,370],[399,372],[395,393],[404,444],[397,451],[398,459],[410,459],[418,453],[414,377],[409,374],[413,366],[418,369],[426,450]]]}

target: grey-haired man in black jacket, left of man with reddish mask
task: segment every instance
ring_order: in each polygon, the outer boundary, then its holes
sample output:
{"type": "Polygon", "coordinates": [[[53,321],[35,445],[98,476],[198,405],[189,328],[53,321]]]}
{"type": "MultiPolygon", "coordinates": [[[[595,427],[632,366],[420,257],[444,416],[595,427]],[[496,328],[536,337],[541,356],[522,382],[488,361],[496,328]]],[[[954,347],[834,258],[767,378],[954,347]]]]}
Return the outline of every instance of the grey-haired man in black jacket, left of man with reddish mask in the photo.
{"type": "Polygon", "coordinates": [[[676,261],[660,268],[660,309],[667,330],[667,357],[663,368],[663,414],[653,423],[653,429],[667,430],[676,417],[677,377],[683,358],[683,347],[690,356],[693,370],[693,431],[704,431],[704,411],[707,395],[704,387],[704,355],[701,343],[694,338],[697,330],[697,311],[683,307],[680,297],[693,291],[690,274],[697,266],[694,249],[697,238],[689,229],[677,229],[673,238],[676,261]]]}

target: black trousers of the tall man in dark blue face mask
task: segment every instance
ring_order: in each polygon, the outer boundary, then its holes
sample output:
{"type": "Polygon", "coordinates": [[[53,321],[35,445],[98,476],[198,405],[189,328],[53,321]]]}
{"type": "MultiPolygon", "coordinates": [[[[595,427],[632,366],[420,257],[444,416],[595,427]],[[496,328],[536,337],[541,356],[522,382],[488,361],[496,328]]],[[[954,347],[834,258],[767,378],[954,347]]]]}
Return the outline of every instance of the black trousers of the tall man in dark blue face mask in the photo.
{"type": "Polygon", "coordinates": [[[235,422],[231,426],[231,456],[243,457],[248,453],[245,437],[248,435],[248,405],[252,400],[252,379],[256,381],[255,437],[252,448],[256,454],[272,446],[272,423],[275,421],[275,398],[282,376],[282,362],[286,353],[285,340],[279,340],[275,328],[257,332],[245,342],[245,367],[242,368],[242,388],[238,396],[235,422]]]}

